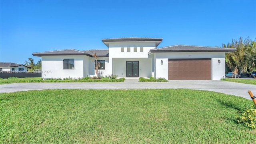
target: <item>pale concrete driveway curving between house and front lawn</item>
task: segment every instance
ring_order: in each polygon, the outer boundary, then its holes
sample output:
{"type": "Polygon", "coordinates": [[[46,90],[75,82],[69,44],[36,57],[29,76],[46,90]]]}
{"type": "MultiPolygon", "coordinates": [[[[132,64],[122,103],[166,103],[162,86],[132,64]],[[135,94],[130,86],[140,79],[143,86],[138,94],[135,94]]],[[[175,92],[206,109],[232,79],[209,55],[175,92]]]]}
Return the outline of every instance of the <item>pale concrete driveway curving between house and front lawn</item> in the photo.
{"type": "Polygon", "coordinates": [[[256,95],[256,85],[220,80],[169,80],[169,82],[138,82],[138,79],[112,83],[14,83],[0,85],[0,93],[43,89],[150,89],[188,88],[222,92],[251,99],[248,90],[256,95]]]}

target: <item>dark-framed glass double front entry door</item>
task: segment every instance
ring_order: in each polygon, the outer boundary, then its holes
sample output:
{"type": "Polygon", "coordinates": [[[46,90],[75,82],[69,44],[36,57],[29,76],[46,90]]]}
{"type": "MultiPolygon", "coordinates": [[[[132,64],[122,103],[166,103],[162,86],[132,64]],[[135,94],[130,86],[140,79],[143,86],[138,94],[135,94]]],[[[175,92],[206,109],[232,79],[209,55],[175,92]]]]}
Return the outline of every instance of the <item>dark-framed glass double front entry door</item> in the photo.
{"type": "Polygon", "coordinates": [[[139,77],[139,61],[126,61],[126,77],[139,77]]]}

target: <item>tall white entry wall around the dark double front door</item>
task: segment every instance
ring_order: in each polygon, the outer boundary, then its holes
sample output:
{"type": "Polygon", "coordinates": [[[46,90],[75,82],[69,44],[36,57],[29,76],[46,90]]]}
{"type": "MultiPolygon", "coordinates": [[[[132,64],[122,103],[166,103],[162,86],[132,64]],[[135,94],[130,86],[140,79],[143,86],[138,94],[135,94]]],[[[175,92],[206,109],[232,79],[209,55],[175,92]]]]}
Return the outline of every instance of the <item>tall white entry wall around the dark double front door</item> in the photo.
{"type": "Polygon", "coordinates": [[[118,75],[118,77],[126,77],[126,61],[139,61],[139,76],[152,76],[152,58],[148,58],[150,49],[156,48],[155,42],[111,42],[109,43],[109,70],[108,74],[118,75]],[[121,48],[124,52],[121,52],[121,48]],[[127,48],[130,47],[130,52],[127,48]],[[134,47],[137,52],[134,52],[134,47]],[[140,52],[143,47],[143,52],[140,52]]]}

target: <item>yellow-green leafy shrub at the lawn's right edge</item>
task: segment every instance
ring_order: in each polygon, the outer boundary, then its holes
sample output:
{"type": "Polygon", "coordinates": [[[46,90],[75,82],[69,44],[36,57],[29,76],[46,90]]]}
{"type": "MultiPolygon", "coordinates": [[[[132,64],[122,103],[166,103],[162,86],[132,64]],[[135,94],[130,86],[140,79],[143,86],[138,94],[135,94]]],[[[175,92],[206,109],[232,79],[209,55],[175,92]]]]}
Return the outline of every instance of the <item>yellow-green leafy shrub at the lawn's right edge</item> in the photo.
{"type": "Polygon", "coordinates": [[[256,107],[250,105],[250,107],[240,112],[240,114],[236,116],[236,118],[238,119],[238,123],[242,123],[248,128],[256,128],[256,107]]]}

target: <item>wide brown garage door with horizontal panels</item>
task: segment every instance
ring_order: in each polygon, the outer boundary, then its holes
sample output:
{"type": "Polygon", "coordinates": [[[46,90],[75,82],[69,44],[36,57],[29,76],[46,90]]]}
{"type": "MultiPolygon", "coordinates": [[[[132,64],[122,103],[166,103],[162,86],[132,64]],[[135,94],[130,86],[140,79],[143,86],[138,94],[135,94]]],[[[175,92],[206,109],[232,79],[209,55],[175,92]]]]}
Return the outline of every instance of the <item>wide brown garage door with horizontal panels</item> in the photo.
{"type": "Polygon", "coordinates": [[[211,59],[169,59],[168,80],[211,80],[211,59]]]}

